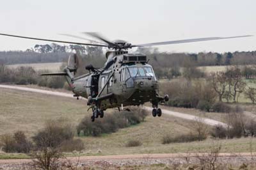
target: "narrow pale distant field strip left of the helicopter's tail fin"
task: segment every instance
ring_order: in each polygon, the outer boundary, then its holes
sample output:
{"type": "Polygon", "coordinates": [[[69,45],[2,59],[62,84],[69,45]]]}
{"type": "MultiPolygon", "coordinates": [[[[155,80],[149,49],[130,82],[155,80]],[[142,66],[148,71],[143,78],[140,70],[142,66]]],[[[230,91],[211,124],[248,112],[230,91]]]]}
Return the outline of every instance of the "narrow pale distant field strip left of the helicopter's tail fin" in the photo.
{"type": "Polygon", "coordinates": [[[19,64],[19,65],[7,65],[9,68],[17,68],[19,66],[32,66],[35,70],[49,70],[52,72],[60,71],[62,63],[31,63],[31,64],[19,64]]]}

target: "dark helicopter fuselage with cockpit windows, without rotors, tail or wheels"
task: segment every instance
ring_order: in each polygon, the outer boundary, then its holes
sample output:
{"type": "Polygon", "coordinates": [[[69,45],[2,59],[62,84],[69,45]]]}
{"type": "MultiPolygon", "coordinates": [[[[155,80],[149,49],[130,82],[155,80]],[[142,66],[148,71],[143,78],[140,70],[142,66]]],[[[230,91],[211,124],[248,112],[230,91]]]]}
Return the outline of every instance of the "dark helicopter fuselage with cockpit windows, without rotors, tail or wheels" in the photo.
{"type": "Polygon", "coordinates": [[[74,79],[74,96],[88,98],[88,105],[97,105],[102,110],[145,102],[158,104],[157,79],[152,66],[147,64],[147,56],[127,51],[107,55],[108,61],[101,72],[74,79]]]}

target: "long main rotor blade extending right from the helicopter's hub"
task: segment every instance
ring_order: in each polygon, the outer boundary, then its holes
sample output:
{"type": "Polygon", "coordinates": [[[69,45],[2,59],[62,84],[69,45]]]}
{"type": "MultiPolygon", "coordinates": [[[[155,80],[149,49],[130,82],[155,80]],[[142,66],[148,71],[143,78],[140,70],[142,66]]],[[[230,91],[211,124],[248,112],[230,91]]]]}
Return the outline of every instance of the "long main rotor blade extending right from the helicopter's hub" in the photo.
{"type": "Polygon", "coordinates": [[[195,39],[188,39],[188,40],[175,40],[175,41],[170,41],[170,42],[142,43],[142,44],[138,44],[138,45],[132,45],[132,47],[147,47],[147,46],[168,45],[168,44],[176,44],[176,43],[204,42],[204,41],[211,41],[211,40],[242,38],[242,37],[247,37],[247,36],[253,36],[253,35],[229,36],[229,37],[208,37],[208,38],[195,38],[195,39]]]}

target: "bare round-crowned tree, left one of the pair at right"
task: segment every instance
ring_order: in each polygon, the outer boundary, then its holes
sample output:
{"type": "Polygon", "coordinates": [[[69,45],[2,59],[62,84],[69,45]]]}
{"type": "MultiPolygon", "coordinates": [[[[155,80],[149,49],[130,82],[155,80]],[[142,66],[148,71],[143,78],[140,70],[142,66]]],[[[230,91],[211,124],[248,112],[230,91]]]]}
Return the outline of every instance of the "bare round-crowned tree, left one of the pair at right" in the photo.
{"type": "Polygon", "coordinates": [[[222,101],[223,94],[225,93],[228,85],[227,77],[223,72],[212,73],[211,75],[212,88],[218,93],[219,101],[222,101]]]}

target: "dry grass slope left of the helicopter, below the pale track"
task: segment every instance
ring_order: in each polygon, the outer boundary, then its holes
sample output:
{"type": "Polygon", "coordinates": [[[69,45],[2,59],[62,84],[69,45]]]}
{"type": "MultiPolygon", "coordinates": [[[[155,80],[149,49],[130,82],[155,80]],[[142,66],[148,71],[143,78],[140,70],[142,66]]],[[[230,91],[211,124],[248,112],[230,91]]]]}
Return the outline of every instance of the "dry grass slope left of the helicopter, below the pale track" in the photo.
{"type": "Polygon", "coordinates": [[[23,130],[31,136],[46,120],[63,118],[77,125],[89,114],[85,100],[3,88],[0,93],[0,135],[23,130]]]}

